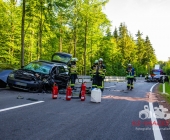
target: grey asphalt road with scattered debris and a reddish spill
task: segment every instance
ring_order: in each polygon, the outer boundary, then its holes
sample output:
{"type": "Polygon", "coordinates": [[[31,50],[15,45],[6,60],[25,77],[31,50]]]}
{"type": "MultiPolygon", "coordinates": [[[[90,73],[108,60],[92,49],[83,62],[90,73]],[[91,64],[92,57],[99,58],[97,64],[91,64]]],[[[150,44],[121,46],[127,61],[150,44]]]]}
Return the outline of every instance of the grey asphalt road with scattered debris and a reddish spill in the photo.
{"type": "Polygon", "coordinates": [[[63,94],[52,99],[0,89],[0,140],[169,140],[168,126],[153,129],[150,118],[139,117],[144,105],[159,106],[146,97],[154,84],[138,80],[126,91],[125,82],[106,82],[101,103],[90,102],[89,95],[85,101],[66,101],[63,94]]]}

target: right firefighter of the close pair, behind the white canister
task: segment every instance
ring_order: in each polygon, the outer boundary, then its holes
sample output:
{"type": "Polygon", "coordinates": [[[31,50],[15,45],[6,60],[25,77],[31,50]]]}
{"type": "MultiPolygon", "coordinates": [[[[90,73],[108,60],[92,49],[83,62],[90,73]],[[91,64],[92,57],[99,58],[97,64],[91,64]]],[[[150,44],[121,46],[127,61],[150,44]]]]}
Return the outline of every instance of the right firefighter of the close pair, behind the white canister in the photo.
{"type": "Polygon", "coordinates": [[[100,88],[102,92],[104,90],[105,73],[106,73],[106,67],[103,64],[103,59],[100,58],[98,63],[98,69],[97,69],[97,81],[98,81],[97,88],[100,88]]]}

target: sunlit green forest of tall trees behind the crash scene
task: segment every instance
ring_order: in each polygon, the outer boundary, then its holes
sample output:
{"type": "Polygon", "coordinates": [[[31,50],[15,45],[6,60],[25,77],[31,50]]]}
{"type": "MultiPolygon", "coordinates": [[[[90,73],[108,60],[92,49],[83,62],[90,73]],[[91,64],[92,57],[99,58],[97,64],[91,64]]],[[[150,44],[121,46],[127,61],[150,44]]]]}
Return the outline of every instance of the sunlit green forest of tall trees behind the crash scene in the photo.
{"type": "MultiPolygon", "coordinates": [[[[126,23],[111,30],[103,12],[108,0],[0,0],[0,63],[20,68],[51,60],[55,52],[78,58],[79,74],[88,75],[103,58],[106,75],[124,76],[131,63],[137,75],[157,62],[149,36],[132,36],[126,23]]],[[[115,19],[116,20],[116,19],[115,19]]],[[[113,21],[114,22],[114,21],[113,21]]],[[[160,62],[170,74],[170,62],[160,62]]]]}

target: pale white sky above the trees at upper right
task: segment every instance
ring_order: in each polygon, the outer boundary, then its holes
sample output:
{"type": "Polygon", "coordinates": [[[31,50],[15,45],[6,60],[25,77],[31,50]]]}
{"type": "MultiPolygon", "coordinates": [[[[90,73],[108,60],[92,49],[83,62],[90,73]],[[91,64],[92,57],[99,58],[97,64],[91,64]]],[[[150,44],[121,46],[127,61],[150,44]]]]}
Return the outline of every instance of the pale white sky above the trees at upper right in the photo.
{"type": "Polygon", "coordinates": [[[149,37],[159,61],[170,57],[170,0],[110,0],[103,12],[112,23],[112,31],[125,23],[135,38],[149,37]]]}

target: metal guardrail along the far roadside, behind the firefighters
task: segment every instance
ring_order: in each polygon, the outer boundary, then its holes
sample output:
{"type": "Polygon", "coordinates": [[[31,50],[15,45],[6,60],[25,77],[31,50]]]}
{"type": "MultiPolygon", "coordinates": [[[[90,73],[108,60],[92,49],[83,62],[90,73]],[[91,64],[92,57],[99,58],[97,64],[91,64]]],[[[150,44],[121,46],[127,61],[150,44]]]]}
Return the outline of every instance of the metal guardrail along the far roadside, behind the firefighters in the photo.
{"type": "MultiPolygon", "coordinates": [[[[136,80],[145,80],[145,78],[144,77],[136,77],[136,80]]],[[[125,76],[105,76],[104,81],[105,82],[109,82],[109,81],[124,82],[124,81],[126,81],[126,77],[125,76]]],[[[92,82],[91,76],[79,75],[78,79],[76,80],[76,83],[82,83],[82,82],[92,82]]]]}

